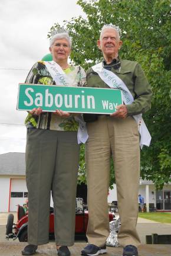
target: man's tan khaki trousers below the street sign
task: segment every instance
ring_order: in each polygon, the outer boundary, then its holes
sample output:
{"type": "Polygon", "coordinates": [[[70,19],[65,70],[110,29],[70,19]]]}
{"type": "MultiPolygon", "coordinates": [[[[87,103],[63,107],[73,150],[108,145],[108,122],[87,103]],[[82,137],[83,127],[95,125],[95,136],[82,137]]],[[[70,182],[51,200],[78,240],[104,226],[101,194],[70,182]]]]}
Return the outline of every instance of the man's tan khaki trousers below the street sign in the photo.
{"type": "Polygon", "coordinates": [[[87,123],[87,130],[88,242],[101,247],[109,234],[107,195],[112,154],[121,219],[119,243],[123,247],[129,244],[138,246],[140,147],[137,123],[133,117],[99,116],[97,121],[87,123]]]}

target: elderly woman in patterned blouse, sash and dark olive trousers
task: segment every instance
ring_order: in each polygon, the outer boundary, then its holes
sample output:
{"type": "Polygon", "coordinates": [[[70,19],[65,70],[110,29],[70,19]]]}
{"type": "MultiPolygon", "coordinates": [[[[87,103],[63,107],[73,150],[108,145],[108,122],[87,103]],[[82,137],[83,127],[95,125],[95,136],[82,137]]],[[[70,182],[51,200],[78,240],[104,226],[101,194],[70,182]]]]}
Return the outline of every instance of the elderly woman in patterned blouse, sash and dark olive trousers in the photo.
{"type": "MultiPolygon", "coordinates": [[[[61,31],[60,31],[61,32],[61,31]]],[[[27,84],[84,86],[85,72],[68,64],[71,39],[66,31],[50,40],[52,62],[35,63],[27,84]],[[58,72],[58,75],[56,75],[58,72]],[[64,79],[60,79],[63,76],[64,79]]],[[[29,199],[28,245],[22,255],[33,255],[49,241],[51,191],[54,201],[54,233],[59,256],[69,256],[74,244],[75,194],[80,146],[74,115],[61,110],[29,111],[27,126],[26,179],[29,199]]]]}

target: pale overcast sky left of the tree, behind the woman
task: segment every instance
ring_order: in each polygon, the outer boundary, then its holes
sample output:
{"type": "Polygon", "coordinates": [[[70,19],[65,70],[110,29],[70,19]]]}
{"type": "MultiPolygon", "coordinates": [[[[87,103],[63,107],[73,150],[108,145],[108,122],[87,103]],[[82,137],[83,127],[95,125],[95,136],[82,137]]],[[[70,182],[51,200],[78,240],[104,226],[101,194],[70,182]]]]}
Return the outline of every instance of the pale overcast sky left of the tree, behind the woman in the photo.
{"type": "Polygon", "coordinates": [[[16,110],[18,84],[49,53],[48,31],[82,15],[77,0],[0,1],[0,154],[25,152],[25,111],[16,110]]]}

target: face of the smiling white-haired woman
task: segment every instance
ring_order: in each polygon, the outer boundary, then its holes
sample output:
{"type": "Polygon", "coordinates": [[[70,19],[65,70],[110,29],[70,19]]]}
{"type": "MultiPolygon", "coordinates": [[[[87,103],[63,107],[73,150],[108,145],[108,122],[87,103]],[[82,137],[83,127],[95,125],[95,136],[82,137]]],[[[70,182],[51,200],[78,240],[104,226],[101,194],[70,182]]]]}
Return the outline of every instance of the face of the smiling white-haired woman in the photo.
{"type": "Polygon", "coordinates": [[[70,56],[71,48],[67,39],[57,39],[54,41],[50,47],[50,52],[52,54],[54,61],[68,60],[70,56]]]}

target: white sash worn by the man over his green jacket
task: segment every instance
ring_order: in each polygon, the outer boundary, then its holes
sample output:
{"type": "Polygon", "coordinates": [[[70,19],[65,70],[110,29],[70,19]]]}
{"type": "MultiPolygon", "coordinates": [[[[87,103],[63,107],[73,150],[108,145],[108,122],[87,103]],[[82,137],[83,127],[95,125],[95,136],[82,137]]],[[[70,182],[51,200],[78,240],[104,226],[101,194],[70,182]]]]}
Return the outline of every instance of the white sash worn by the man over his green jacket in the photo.
{"type": "MultiPolygon", "coordinates": [[[[126,84],[113,72],[104,69],[102,63],[98,63],[97,65],[92,66],[93,70],[98,73],[100,78],[110,87],[114,89],[121,89],[123,95],[124,104],[131,104],[134,101],[133,95],[131,95],[129,89],[126,84]]],[[[133,116],[138,124],[140,137],[140,147],[143,148],[143,145],[150,146],[150,141],[152,137],[144,123],[142,118],[142,114],[137,114],[133,116]]]]}

